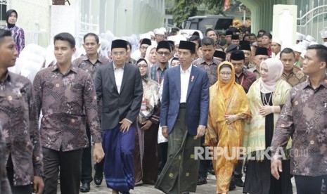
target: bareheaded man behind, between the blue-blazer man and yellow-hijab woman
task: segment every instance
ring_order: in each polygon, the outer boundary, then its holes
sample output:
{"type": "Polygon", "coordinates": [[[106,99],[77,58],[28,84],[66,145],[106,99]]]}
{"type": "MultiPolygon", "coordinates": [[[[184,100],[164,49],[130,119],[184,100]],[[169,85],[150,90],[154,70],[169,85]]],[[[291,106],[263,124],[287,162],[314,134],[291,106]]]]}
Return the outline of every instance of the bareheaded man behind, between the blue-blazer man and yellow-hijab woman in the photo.
{"type": "MultiPolygon", "coordinates": [[[[192,65],[200,67],[202,70],[207,72],[209,77],[209,86],[212,86],[214,83],[217,82],[218,75],[217,69],[220,61],[214,58],[214,48],[215,43],[213,39],[209,37],[205,37],[201,40],[201,51],[203,56],[198,58],[198,60],[194,60],[192,65]]],[[[201,138],[201,146],[205,143],[205,137],[201,138]]],[[[205,157],[205,153],[203,153],[203,157],[205,157]]],[[[201,160],[200,161],[200,169],[199,169],[199,176],[198,176],[198,185],[206,184],[207,183],[207,167],[208,167],[208,160],[201,160]]]]}

